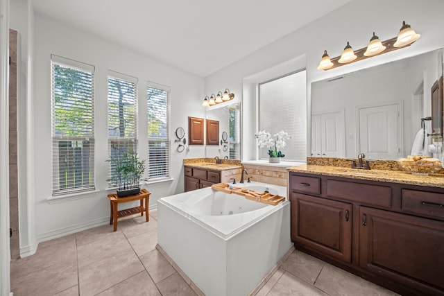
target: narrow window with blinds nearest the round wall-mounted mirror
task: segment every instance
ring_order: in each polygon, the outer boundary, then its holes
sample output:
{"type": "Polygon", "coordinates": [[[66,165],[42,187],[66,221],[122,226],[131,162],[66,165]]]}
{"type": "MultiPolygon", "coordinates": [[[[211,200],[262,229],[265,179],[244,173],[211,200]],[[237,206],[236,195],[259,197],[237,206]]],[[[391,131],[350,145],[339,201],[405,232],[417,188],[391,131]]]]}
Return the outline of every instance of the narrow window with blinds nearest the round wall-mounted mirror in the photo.
{"type": "Polygon", "coordinates": [[[148,180],[169,177],[169,88],[148,84],[148,180]]]}

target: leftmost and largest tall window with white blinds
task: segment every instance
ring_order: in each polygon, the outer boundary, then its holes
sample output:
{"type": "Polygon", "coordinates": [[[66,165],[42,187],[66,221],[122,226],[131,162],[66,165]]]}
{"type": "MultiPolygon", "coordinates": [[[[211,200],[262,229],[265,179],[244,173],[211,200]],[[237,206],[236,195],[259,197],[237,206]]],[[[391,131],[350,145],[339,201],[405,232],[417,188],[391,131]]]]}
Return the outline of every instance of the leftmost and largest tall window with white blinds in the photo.
{"type": "Polygon", "coordinates": [[[53,195],[94,190],[94,67],[51,55],[53,195]]]}

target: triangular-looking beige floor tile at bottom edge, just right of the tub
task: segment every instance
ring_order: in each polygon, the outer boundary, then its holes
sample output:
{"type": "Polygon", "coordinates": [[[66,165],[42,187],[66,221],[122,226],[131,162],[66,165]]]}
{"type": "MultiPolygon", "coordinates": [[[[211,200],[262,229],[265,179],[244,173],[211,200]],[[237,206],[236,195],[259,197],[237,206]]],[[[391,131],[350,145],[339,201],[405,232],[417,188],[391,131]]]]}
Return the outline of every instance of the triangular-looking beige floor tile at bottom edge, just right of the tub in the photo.
{"type": "Polygon", "coordinates": [[[289,272],[285,272],[278,282],[271,288],[268,296],[328,296],[323,291],[318,290],[313,285],[307,283],[303,279],[291,275],[289,272]]]}

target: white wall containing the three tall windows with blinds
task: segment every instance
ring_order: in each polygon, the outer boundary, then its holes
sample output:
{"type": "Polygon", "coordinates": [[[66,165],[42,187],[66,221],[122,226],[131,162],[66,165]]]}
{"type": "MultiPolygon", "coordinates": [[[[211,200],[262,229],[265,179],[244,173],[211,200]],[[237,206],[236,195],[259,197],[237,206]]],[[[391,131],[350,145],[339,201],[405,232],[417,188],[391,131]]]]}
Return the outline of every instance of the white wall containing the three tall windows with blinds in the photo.
{"type": "MultiPolygon", "coordinates": [[[[146,38],[146,36],[140,37],[146,38]]],[[[108,164],[105,163],[108,159],[107,71],[117,71],[139,79],[139,135],[147,134],[147,82],[171,87],[172,141],[175,138],[173,132],[176,128],[181,126],[187,130],[187,116],[204,116],[205,112],[201,107],[204,80],[40,14],[35,15],[34,58],[35,228],[37,241],[46,241],[109,221],[109,201],[105,191],[108,186],[106,182],[108,164]],[[52,194],[51,54],[95,66],[95,175],[98,192],[55,203],[46,200],[51,198],[52,194]]],[[[139,140],[139,156],[147,159],[146,137],[139,136],[139,140]]],[[[170,169],[173,181],[146,185],[148,191],[151,191],[150,207],[155,206],[158,198],[183,191],[184,157],[203,155],[205,155],[203,147],[193,148],[188,153],[186,150],[178,153],[172,149],[170,169]]]]}

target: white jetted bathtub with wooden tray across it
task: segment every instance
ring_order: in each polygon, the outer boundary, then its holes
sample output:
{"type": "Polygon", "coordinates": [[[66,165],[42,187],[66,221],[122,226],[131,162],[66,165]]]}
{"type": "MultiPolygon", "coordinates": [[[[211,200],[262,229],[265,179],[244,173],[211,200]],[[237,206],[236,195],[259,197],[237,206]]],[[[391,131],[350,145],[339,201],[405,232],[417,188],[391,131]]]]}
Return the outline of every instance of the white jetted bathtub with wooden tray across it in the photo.
{"type": "MultiPolygon", "coordinates": [[[[241,186],[287,196],[284,186],[241,186]]],[[[205,295],[248,295],[293,245],[290,204],[210,187],[160,198],[157,243],[205,295]]]]}

